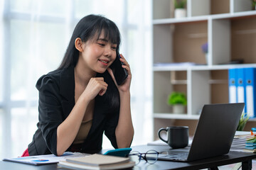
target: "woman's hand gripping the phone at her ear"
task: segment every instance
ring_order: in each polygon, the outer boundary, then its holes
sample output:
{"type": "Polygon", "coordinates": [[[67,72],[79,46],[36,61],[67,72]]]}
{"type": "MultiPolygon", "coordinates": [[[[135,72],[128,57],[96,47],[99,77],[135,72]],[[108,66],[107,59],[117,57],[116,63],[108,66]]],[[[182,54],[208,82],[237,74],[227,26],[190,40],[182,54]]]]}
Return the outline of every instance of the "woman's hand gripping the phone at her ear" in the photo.
{"type": "Polygon", "coordinates": [[[128,77],[127,79],[124,80],[123,84],[121,84],[120,86],[117,85],[117,81],[114,79],[114,74],[112,72],[112,69],[107,68],[107,71],[110,73],[110,76],[112,77],[112,79],[114,80],[114,84],[116,84],[117,86],[117,89],[119,91],[129,91],[129,87],[131,85],[131,81],[132,81],[132,73],[131,73],[131,69],[129,67],[129,64],[127,62],[127,60],[124,59],[124,56],[123,55],[120,55],[120,61],[123,62],[124,64],[122,65],[122,67],[124,69],[127,69],[127,72],[128,72],[128,77]]]}

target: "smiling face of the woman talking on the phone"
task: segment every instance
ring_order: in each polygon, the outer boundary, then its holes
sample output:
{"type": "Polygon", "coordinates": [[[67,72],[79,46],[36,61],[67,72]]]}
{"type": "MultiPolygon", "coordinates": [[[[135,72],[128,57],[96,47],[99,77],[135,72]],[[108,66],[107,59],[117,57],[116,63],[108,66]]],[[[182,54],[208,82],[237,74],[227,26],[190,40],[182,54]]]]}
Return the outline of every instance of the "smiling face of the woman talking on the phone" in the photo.
{"type": "Polygon", "coordinates": [[[83,42],[84,50],[80,54],[86,67],[98,73],[105,72],[117,55],[117,44],[112,44],[104,35],[102,31],[98,39],[83,42]]]}

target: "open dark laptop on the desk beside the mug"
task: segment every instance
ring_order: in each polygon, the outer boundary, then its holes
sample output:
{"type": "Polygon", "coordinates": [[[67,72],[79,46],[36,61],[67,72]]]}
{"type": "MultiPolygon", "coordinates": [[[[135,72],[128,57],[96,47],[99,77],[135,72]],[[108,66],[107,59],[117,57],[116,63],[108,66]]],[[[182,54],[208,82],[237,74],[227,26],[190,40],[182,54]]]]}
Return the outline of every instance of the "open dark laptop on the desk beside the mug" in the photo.
{"type": "Polygon", "coordinates": [[[191,147],[160,152],[159,160],[190,162],[228,154],[245,103],[203,106],[191,147]]]}

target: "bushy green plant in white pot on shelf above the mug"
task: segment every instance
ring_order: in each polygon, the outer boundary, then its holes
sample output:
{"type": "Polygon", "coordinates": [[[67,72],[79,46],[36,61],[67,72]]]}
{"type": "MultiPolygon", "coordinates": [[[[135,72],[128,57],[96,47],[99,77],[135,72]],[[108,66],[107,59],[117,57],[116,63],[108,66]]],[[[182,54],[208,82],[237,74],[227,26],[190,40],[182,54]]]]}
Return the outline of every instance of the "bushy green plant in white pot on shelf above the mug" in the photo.
{"type": "Polygon", "coordinates": [[[173,91],[168,96],[168,104],[173,106],[174,113],[184,113],[187,104],[186,96],[182,92],[173,91]]]}

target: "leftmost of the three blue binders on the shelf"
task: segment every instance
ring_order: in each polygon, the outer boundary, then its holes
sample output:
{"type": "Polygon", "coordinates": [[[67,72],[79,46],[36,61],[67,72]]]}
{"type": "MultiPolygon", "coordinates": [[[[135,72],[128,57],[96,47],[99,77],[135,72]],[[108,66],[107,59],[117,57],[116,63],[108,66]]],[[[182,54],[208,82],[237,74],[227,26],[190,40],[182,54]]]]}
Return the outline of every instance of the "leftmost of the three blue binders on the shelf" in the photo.
{"type": "Polygon", "coordinates": [[[236,69],[228,69],[228,96],[229,103],[237,103],[236,69]]]}

